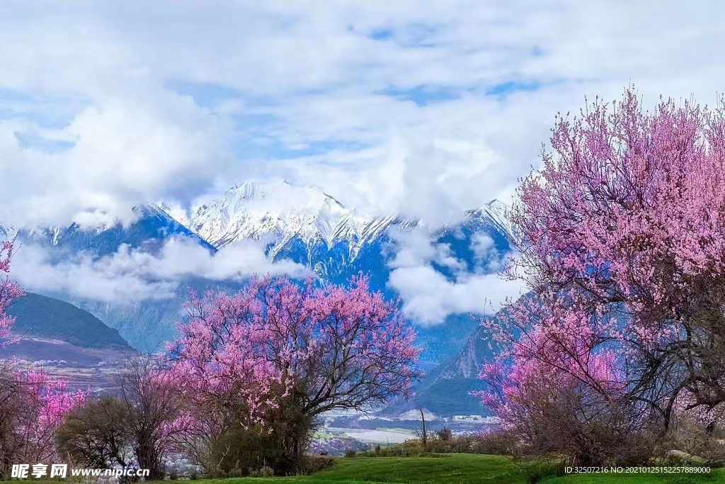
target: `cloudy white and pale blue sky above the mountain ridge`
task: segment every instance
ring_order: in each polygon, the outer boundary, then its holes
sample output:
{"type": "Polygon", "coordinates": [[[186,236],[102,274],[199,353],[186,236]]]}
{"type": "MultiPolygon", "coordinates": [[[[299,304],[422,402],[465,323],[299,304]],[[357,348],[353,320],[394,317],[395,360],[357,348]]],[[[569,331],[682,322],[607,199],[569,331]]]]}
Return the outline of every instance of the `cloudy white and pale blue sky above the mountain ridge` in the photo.
{"type": "Polygon", "coordinates": [[[0,222],[123,218],[269,178],[443,221],[510,201],[555,114],[585,96],[634,83],[648,105],[714,104],[724,14],[698,0],[4,0],[0,222]]]}

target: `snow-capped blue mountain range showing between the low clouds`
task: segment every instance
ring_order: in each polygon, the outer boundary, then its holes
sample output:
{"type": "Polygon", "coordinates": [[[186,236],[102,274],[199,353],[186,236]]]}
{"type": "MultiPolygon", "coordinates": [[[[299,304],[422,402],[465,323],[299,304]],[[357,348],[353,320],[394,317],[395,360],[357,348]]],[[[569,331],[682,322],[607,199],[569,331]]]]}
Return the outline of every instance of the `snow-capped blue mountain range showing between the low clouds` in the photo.
{"type": "MultiPolygon", "coordinates": [[[[234,186],[217,200],[192,210],[158,203],[134,208],[132,223],[106,223],[102,226],[39,227],[16,231],[0,226],[0,237],[17,233],[21,243],[46,247],[51,263],[77,260],[83,254],[98,258],[116,253],[121,245],[133,250],[156,253],[172,237],[187,237],[207,247],[210,253],[225,250],[233,242],[257,239],[265,242],[272,261],[291,260],[312,269],[323,282],[346,284],[362,272],[370,277],[370,287],[389,298],[398,294],[389,286],[390,263],[398,250],[395,233],[415,227],[426,229],[431,242],[450,247],[452,256],[471,271],[480,271],[473,240],[486,234],[495,250],[509,250],[513,230],[508,208],[496,200],[476,210],[462,213],[446,226],[428,230],[424,221],[397,214],[365,216],[347,208],[321,189],[296,187],[287,183],[234,186]]],[[[446,267],[435,267],[450,282],[456,274],[446,267]]],[[[135,304],[108,303],[78,295],[53,292],[46,295],[67,300],[94,314],[119,330],[128,342],[141,350],[158,348],[175,335],[179,298],[191,287],[197,292],[210,289],[238,290],[240,281],[211,281],[189,276],[178,284],[178,298],[146,298],[135,304]]],[[[29,290],[33,288],[28,287],[29,290]]],[[[485,295],[482,295],[485,298],[485,295]]],[[[443,321],[442,321],[443,322],[443,321]]],[[[442,362],[463,347],[476,327],[467,315],[449,316],[445,324],[419,327],[419,341],[431,362],[442,362]]]]}

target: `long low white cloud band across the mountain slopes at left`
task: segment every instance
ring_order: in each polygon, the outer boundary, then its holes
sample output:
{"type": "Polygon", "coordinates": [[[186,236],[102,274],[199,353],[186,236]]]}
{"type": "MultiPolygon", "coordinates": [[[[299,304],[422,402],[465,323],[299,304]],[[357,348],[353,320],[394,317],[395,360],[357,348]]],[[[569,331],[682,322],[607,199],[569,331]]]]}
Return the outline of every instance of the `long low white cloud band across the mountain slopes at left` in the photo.
{"type": "Polygon", "coordinates": [[[215,254],[190,239],[170,239],[158,255],[128,246],[103,258],[80,254],[52,263],[43,248],[23,245],[13,258],[12,276],[28,290],[59,291],[108,303],[138,303],[146,299],[176,298],[178,284],[187,276],[212,280],[242,280],[254,274],[307,275],[307,268],[291,261],[272,263],[264,242],[243,241],[215,254]]]}

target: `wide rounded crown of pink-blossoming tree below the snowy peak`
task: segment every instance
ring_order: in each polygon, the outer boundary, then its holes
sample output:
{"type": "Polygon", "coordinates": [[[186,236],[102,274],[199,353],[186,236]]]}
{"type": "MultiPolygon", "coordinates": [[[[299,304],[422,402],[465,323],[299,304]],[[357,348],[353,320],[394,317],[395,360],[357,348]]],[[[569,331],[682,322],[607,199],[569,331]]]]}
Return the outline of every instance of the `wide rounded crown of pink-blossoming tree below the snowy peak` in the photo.
{"type": "Polygon", "coordinates": [[[213,395],[216,409],[244,424],[265,424],[291,407],[308,420],[365,409],[407,395],[421,376],[413,329],[364,277],[349,289],[254,279],[233,295],[192,294],[186,311],[169,349],[187,390],[213,395]]]}

